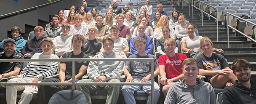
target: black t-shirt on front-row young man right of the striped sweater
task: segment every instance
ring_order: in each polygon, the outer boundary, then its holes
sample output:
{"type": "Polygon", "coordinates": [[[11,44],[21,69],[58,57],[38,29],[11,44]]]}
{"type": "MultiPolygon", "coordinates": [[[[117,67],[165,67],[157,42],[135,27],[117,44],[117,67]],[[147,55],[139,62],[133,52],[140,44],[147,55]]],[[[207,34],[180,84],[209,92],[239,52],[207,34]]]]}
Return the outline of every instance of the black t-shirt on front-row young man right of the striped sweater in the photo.
{"type": "MultiPolygon", "coordinates": [[[[62,59],[78,59],[78,58],[89,58],[88,55],[86,55],[85,53],[81,52],[78,55],[74,55],[73,51],[72,52],[68,52],[62,55],[62,59]]],[[[65,71],[65,79],[71,79],[72,78],[72,62],[70,61],[66,61],[66,62],[61,62],[61,64],[66,64],[66,71],[65,71]]],[[[78,74],[79,69],[82,65],[88,66],[89,62],[88,61],[76,61],[75,62],[75,75],[78,74]]],[[[84,75],[86,75],[87,72],[84,73],[84,75]]]]}

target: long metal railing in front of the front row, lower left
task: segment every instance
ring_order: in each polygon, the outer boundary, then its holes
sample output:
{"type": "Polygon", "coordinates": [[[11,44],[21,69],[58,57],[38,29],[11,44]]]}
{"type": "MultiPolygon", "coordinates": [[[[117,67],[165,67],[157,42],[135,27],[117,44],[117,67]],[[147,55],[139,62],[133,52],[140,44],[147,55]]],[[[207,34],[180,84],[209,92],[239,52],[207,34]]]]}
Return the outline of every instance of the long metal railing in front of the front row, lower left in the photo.
{"type": "MultiPolygon", "coordinates": [[[[75,79],[75,61],[151,61],[151,83],[0,83],[0,85],[151,85],[151,96],[155,97],[154,89],[154,58],[105,58],[105,59],[0,59],[0,62],[26,62],[26,61],[72,61],[72,79],[75,79]]],[[[154,99],[151,99],[154,104],[154,99]]]]}

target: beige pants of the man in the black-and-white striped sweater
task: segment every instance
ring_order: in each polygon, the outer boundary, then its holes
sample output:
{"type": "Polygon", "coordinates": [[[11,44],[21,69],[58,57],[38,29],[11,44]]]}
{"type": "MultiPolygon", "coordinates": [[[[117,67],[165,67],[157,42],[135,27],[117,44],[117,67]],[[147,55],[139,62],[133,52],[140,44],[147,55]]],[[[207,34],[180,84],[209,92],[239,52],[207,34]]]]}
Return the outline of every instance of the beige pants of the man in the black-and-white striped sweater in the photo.
{"type": "MultiPolygon", "coordinates": [[[[9,83],[31,83],[34,77],[13,78],[8,80],[9,83]]],[[[16,104],[17,91],[23,91],[18,104],[29,104],[33,96],[38,93],[38,88],[29,87],[29,85],[6,85],[6,102],[7,104],[16,104]]]]}

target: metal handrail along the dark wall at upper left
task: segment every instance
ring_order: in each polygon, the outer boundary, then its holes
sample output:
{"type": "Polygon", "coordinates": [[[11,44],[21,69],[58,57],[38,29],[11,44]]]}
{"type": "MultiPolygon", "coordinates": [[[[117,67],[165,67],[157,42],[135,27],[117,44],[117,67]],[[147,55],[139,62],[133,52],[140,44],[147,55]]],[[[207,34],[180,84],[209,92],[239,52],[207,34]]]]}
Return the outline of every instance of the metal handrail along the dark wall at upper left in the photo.
{"type": "Polygon", "coordinates": [[[41,6],[45,6],[45,5],[48,5],[48,4],[53,4],[53,3],[56,3],[56,2],[59,2],[59,1],[63,2],[63,0],[56,0],[56,1],[53,1],[51,3],[45,3],[45,4],[42,4],[42,5],[38,5],[38,6],[31,7],[31,8],[23,9],[23,10],[20,10],[20,11],[15,11],[15,12],[12,12],[12,13],[7,13],[7,14],[4,14],[4,15],[1,15],[0,18],[3,18],[5,16],[10,16],[10,15],[13,15],[13,14],[16,14],[16,13],[18,13],[18,15],[19,15],[21,12],[25,12],[25,11],[28,11],[28,10],[31,10],[31,9],[35,9],[35,8],[38,9],[41,6]]]}

